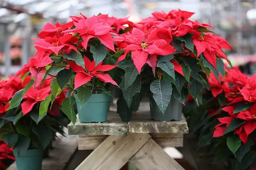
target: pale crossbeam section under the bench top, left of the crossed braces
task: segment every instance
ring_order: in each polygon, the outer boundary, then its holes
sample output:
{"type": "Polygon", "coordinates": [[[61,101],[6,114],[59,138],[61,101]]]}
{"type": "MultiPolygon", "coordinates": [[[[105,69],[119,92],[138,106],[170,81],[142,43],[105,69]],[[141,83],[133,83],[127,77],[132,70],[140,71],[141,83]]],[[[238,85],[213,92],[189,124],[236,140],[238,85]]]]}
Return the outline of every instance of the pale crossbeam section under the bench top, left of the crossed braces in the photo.
{"type": "Polygon", "coordinates": [[[108,135],[79,135],[78,150],[94,150],[108,135]]]}

